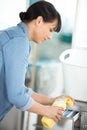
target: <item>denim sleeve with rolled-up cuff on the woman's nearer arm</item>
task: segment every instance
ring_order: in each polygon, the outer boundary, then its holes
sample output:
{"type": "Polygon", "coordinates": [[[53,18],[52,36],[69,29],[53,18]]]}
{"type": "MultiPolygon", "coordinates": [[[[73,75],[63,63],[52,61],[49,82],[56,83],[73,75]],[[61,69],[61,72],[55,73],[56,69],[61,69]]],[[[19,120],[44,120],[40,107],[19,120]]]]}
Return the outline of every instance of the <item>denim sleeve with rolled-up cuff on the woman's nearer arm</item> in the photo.
{"type": "Polygon", "coordinates": [[[25,86],[25,72],[28,65],[29,44],[23,37],[11,39],[3,47],[5,64],[5,86],[8,101],[23,111],[29,109],[34,100],[34,91],[25,86]]]}

